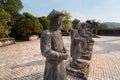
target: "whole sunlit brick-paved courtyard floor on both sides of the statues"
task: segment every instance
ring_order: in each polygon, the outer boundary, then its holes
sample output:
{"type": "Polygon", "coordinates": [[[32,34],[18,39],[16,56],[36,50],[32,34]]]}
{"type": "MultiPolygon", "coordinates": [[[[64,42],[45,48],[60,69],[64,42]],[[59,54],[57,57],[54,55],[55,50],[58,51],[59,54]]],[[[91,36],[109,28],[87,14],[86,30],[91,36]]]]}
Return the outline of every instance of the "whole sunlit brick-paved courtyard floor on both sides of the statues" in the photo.
{"type": "MultiPolygon", "coordinates": [[[[70,49],[70,37],[63,37],[70,49]]],[[[120,80],[120,37],[94,38],[88,80],[120,80]]],[[[40,40],[0,47],[0,80],[43,80],[45,58],[40,40]]],[[[68,76],[68,80],[80,80],[68,76]]]]}

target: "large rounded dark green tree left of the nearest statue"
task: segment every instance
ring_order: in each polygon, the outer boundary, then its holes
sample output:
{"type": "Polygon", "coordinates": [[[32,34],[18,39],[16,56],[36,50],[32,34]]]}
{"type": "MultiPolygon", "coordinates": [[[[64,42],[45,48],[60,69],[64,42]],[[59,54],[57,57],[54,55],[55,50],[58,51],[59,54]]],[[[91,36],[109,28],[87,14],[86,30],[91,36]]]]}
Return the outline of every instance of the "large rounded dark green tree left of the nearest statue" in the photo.
{"type": "Polygon", "coordinates": [[[16,21],[12,30],[15,31],[16,36],[40,34],[42,32],[42,25],[39,23],[37,17],[34,17],[30,13],[23,13],[16,21]]]}

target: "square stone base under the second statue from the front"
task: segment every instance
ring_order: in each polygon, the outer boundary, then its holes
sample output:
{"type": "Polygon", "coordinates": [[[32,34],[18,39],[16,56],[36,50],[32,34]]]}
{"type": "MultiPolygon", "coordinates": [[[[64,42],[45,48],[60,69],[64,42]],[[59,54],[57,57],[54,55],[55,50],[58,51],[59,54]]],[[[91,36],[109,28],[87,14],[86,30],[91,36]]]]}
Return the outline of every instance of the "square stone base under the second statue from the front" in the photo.
{"type": "Polygon", "coordinates": [[[87,80],[89,74],[89,64],[87,62],[77,61],[77,63],[70,62],[67,64],[67,74],[78,77],[82,80],[87,80]]]}

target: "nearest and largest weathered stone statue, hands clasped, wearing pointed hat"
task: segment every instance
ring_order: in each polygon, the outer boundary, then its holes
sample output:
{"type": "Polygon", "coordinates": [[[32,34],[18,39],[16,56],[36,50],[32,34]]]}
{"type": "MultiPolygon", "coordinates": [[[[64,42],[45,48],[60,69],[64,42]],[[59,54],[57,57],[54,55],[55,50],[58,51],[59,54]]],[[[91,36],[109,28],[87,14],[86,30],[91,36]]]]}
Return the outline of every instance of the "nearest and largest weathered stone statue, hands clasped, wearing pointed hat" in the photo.
{"type": "Polygon", "coordinates": [[[49,15],[49,29],[41,34],[41,53],[46,58],[44,80],[66,80],[64,60],[68,58],[63,39],[58,28],[64,14],[53,10],[49,15]]]}

